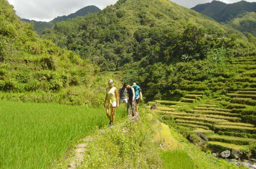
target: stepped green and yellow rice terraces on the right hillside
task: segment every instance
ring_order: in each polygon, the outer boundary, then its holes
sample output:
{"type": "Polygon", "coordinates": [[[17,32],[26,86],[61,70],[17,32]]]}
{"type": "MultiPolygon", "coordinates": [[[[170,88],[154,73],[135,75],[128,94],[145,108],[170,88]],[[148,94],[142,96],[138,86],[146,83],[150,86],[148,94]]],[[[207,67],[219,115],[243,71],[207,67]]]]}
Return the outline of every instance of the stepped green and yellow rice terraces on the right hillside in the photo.
{"type": "MultiPolygon", "coordinates": [[[[218,97],[206,97],[204,91],[186,91],[180,101],[157,102],[163,120],[208,136],[208,147],[220,153],[225,150],[245,150],[256,144],[256,57],[230,60],[237,74],[222,78],[226,90],[218,97]],[[234,87],[235,86],[235,87],[234,87]]],[[[216,93],[219,91],[217,90],[216,93]]],[[[220,93],[220,92],[219,92],[220,93]]]]}

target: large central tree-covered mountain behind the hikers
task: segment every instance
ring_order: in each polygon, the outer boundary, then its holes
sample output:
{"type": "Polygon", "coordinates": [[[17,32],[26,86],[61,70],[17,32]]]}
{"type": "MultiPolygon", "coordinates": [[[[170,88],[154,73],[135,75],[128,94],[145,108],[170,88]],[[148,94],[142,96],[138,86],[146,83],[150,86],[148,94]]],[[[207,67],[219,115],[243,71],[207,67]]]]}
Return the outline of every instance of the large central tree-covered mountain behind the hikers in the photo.
{"type": "Polygon", "coordinates": [[[151,96],[181,89],[187,80],[229,76],[218,65],[225,58],[256,54],[240,32],[169,0],[119,0],[97,14],[59,22],[42,37],[101,71],[133,69],[125,80],[140,82],[151,96]]]}

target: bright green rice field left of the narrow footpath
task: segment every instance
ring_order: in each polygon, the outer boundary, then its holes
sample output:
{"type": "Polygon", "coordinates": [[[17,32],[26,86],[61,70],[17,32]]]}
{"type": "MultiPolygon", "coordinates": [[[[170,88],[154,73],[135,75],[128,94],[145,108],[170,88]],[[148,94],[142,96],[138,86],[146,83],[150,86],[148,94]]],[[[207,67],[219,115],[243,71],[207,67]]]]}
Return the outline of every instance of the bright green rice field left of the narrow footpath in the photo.
{"type": "MultiPolygon", "coordinates": [[[[115,114],[118,121],[126,111],[120,108],[115,114]]],[[[108,122],[103,106],[0,101],[0,169],[49,168],[82,137],[108,122]]]]}

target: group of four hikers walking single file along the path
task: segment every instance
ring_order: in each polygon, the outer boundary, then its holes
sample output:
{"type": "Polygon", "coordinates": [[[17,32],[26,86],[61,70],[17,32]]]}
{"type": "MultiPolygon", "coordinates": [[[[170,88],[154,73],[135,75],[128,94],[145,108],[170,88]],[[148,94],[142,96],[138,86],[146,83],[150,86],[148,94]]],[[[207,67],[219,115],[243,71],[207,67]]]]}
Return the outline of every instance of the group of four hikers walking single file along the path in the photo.
{"type": "Polygon", "coordinates": [[[136,83],[133,83],[132,86],[130,86],[128,83],[124,83],[118,91],[116,87],[114,87],[113,83],[114,81],[112,79],[108,80],[108,87],[106,89],[106,97],[104,101],[106,114],[108,116],[108,119],[110,120],[108,124],[109,127],[114,125],[114,113],[116,107],[119,107],[119,103],[125,103],[125,107],[127,107],[127,113],[129,117],[134,116],[136,115],[136,113],[138,113],[138,104],[140,103],[140,100],[142,100],[142,92],[140,86],[138,86],[136,83]]]}

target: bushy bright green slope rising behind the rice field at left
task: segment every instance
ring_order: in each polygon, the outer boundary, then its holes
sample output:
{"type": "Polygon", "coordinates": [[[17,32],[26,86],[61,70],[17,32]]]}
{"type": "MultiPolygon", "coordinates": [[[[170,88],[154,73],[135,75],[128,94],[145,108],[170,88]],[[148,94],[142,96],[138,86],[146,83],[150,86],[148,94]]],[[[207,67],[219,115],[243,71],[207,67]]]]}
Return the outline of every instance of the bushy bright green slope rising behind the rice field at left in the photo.
{"type": "Polygon", "coordinates": [[[96,103],[97,97],[94,101],[87,97],[101,92],[100,89],[92,92],[97,66],[49,40],[42,40],[30,24],[20,21],[7,0],[0,2],[1,99],[96,103]],[[78,86],[83,87],[79,89],[78,86]]]}

